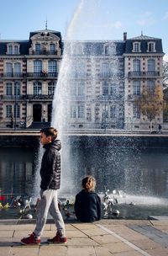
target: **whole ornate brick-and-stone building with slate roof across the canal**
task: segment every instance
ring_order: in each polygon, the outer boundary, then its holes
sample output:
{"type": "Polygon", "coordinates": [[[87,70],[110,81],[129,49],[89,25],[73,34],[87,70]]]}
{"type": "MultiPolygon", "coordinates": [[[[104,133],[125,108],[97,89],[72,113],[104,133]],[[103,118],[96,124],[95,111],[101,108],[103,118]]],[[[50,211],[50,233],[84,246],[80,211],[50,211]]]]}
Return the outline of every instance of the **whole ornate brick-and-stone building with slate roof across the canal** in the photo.
{"type": "MultiPolygon", "coordinates": [[[[69,46],[70,129],[148,129],[133,99],[146,86],[162,86],[161,40],[143,35],[127,40],[124,33],[123,40],[69,46]]],[[[60,32],[49,29],[30,32],[29,40],[0,40],[0,128],[50,122],[63,48],[60,32]]]]}

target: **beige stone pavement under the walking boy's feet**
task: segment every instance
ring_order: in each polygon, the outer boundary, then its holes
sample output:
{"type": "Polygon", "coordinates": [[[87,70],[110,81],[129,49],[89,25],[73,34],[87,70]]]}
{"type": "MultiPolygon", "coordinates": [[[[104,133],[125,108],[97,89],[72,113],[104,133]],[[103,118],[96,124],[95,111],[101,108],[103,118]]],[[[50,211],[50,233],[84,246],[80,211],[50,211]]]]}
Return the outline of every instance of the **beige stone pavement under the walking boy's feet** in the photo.
{"type": "Polygon", "coordinates": [[[55,225],[45,225],[38,246],[24,246],[22,237],[34,231],[33,221],[0,221],[1,256],[167,256],[168,221],[102,220],[66,223],[66,244],[48,244],[55,225]]]}

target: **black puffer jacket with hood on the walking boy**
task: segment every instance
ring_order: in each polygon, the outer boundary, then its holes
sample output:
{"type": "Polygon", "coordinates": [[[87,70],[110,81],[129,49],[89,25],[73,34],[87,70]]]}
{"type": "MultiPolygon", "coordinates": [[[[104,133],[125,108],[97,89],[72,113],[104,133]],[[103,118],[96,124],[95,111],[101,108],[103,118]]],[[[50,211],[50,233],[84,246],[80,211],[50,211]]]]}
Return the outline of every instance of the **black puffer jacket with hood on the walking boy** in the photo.
{"type": "Polygon", "coordinates": [[[55,140],[49,144],[45,144],[45,153],[42,158],[40,176],[40,188],[60,189],[60,148],[61,143],[55,140]]]}

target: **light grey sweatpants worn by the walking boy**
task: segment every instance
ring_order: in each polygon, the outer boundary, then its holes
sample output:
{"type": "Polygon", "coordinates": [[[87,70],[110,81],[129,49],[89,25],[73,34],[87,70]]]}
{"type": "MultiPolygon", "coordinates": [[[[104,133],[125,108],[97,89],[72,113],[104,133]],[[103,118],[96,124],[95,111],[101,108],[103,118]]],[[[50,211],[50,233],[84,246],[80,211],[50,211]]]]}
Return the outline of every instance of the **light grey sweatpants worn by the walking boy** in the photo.
{"type": "Polygon", "coordinates": [[[57,190],[47,189],[40,191],[41,199],[37,205],[37,219],[34,233],[40,237],[43,233],[48,212],[55,221],[55,226],[60,235],[65,235],[65,224],[58,208],[57,190]]]}

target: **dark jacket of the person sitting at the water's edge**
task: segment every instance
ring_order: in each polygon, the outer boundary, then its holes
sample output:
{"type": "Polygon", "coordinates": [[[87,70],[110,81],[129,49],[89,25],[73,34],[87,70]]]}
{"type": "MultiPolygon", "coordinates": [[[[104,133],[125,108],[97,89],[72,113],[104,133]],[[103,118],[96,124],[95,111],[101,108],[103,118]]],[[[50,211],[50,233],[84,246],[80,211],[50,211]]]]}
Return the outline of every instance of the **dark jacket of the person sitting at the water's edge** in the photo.
{"type": "Polygon", "coordinates": [[[76,218],[82,222],[92,222],[101,219],[101,199],[94,191],[82,189],[76,195],[76,218]]]}

